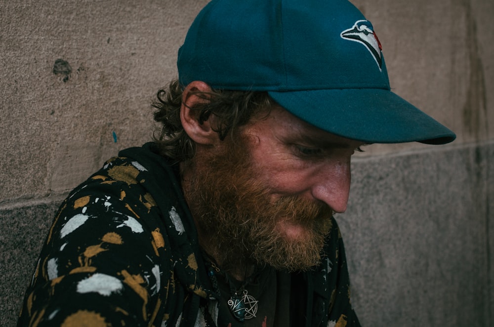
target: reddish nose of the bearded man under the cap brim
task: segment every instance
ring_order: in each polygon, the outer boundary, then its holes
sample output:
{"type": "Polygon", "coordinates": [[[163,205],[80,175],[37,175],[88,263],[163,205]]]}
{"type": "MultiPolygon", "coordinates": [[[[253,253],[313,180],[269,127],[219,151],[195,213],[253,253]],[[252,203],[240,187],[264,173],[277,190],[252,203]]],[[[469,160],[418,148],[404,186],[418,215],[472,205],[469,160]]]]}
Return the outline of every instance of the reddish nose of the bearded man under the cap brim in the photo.
{"type": "Polygon", "coordinates": [[[350,193],[350,161],[329,163],[314,179],[312,196],[336,212],[344,212],[350,193]]]}

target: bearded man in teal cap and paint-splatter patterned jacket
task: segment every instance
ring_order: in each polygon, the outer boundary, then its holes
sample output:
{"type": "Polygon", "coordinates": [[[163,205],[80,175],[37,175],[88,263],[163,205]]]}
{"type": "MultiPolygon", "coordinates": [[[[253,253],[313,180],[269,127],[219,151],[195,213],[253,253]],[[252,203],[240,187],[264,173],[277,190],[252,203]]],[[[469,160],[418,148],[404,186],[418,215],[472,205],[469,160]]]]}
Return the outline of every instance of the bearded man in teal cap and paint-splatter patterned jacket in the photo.
{"type": "Polygon", "coordinates": [[[346,0],[213,0],[158,92],[158,140],[77,187],[19,326],[360,326],[334,212],[369,143],[454,134],[390,92],[346,0]]]}

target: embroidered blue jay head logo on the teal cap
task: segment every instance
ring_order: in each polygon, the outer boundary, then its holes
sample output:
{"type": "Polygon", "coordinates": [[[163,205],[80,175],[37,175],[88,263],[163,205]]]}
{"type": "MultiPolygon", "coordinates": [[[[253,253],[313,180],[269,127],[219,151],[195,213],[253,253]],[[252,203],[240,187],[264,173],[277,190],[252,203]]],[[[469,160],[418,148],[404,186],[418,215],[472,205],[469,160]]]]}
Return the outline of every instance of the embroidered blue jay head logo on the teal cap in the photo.
{"type": "Polygon", "coordinates": [[[382,68],[382,47],[381,42],[377,39],[372,30],[371,22],[368,20],[358,20],[355,24],[348,30],[341,32],[340,36],[344,40],[356,41],[364,44],[366,48],[371,52],[379,70],[382,68]]]}

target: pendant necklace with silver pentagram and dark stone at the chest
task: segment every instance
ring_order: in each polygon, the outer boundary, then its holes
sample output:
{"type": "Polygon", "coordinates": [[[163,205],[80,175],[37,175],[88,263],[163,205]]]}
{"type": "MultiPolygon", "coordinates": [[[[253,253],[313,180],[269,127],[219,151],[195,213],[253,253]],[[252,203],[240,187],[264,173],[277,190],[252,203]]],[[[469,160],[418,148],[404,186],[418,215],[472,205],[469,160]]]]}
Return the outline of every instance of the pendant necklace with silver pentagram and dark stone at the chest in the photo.
{"type": "Polygon", "coordinates": [[[211,273],[214,275],[214,272],[212,271],[213,269],[216,273],[223,275],[230,286],[230,299],[227,301],[227,304],[235,319],[240,322],[244,322],[248,319],[255,318],[255,314],[257,313],[257,303],[259,301],[257,301],[252,295],[248,294],[246,286],[249,283],[249,279],[244,282],[240,289],[237,289],[228,275],[222,272],[218,266],[214,264],[214,262],[211,262],[211,273]]]}

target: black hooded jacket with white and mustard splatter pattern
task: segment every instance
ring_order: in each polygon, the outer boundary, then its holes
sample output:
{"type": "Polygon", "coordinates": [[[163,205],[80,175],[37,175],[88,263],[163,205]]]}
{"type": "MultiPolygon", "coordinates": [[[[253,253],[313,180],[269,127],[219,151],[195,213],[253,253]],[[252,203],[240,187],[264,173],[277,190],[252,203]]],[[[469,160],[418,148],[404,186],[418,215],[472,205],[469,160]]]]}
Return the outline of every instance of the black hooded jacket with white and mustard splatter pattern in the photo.
{"type": "MultiPolygon", "coordinates": [[[[18,326],[218,326],[221,299],[177,167],[152,149],[121,151],[63,202],[18,326]]],[[[324,251],[321,265],[291,276],[301,291],[290,325],[360,326],[334,219],[324,251]]]]}

